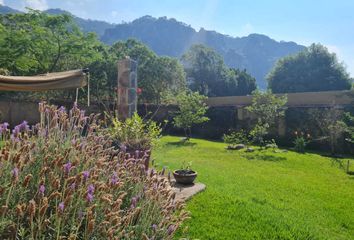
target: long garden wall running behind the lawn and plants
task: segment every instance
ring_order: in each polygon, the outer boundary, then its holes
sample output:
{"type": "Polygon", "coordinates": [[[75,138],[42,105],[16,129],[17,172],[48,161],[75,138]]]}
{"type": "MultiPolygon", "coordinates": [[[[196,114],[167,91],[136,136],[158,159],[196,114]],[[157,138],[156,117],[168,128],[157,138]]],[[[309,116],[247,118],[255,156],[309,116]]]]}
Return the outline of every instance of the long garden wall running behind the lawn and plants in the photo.
{"type": "MultiPolygon", "coordinates": [[[[329,106],[336,104],[336,106],[341,107],[342,111],[349,111],[354,114],[353,91],[296,93],[288,94],[288,99],[286,117],[278,120],[276,128],[272,129],[270,136],[284,146],[293,145],[294,131],[311,133],[314,137],[320,135],[320,129],[316,125],[318,121],[311,115],[313,109],[327,111],[329,106]]],[[[210,121],[194,127],[192,135],[200,138],[220,140],[223,134],[230,130],[250,130],[253,126],[254,117],[245,110],[245,106],[249,105],[251,100],[250,96],[209,98],[208,104],[210,108],[207,116],[210,118],[210,121]]],[[[66,108],[72,107],[71,102],[55,101],[51,103],[65,106],[66,108]]],[[[114,105],[111,103],[92,103],[90,107],[81,104],[79,107],[85,109],[88,113],[103,113],[104,111],[114,109],[114,105]]],[[[139,114],[162,123],[166,134],[182,135],[183,131],[174,128],[172,124],[176,110],[176,106],[147,104],[138,106],[139,114]]],[[[39,121],[38,103],[0,101],[0,120],[2,122],[9,122],[12,126],[19,124],[23,120],[27,120],[30,124],[35,124],[39,121]]],[[[312,145],[314,149],[327,148],[326,144],[321,142],[314,142],[312,145]]],[[[353,149],[353,146],[349,146],[343,142],[342,148],[348,152],[353,149]]]]}

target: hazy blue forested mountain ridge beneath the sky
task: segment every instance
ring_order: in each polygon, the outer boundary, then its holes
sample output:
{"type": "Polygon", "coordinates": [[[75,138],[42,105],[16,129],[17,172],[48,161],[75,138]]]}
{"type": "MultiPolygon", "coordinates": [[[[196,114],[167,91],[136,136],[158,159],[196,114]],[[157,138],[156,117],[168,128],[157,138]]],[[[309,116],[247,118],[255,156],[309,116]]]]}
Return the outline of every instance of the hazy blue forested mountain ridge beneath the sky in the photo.
{"type": "MultiPolygon", "coordinates": [[[[0,5],[0,14],[18,12],[0,5]]],[[[262,34],[231,37],[204,28],[196,31],[190,25],[167,17],[144,16],[129,23],[111,24],[79,18],[61,9],[48,9],[46,12],[70,14],[84,32],[95,32],[106,44],[136,38],[159,55],[179,58],[192,44],[205,44],[221,54],[229,67],[246,69],[257,79],[261,89],[267,87],[265,77],[279,58],[305,48],[295,42],[278,42],[262,34]]]]}

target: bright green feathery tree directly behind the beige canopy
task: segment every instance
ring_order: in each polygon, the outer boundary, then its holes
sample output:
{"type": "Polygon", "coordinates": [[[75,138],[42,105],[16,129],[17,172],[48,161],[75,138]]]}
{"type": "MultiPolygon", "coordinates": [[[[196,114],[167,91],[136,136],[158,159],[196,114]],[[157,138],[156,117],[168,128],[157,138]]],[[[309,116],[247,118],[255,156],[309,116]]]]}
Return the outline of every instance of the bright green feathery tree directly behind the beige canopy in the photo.
{"type": "MultiPolygon", "coordinates": [[[[84,34],[69,15],[29,10],[0,15],[0,68],[9,75],[36,75],[85,68],[103,61],[104,46],[93,33],[84,34]]],[[[73,99],[74,91],[3,93],[22,98],[73,99]]]]}

